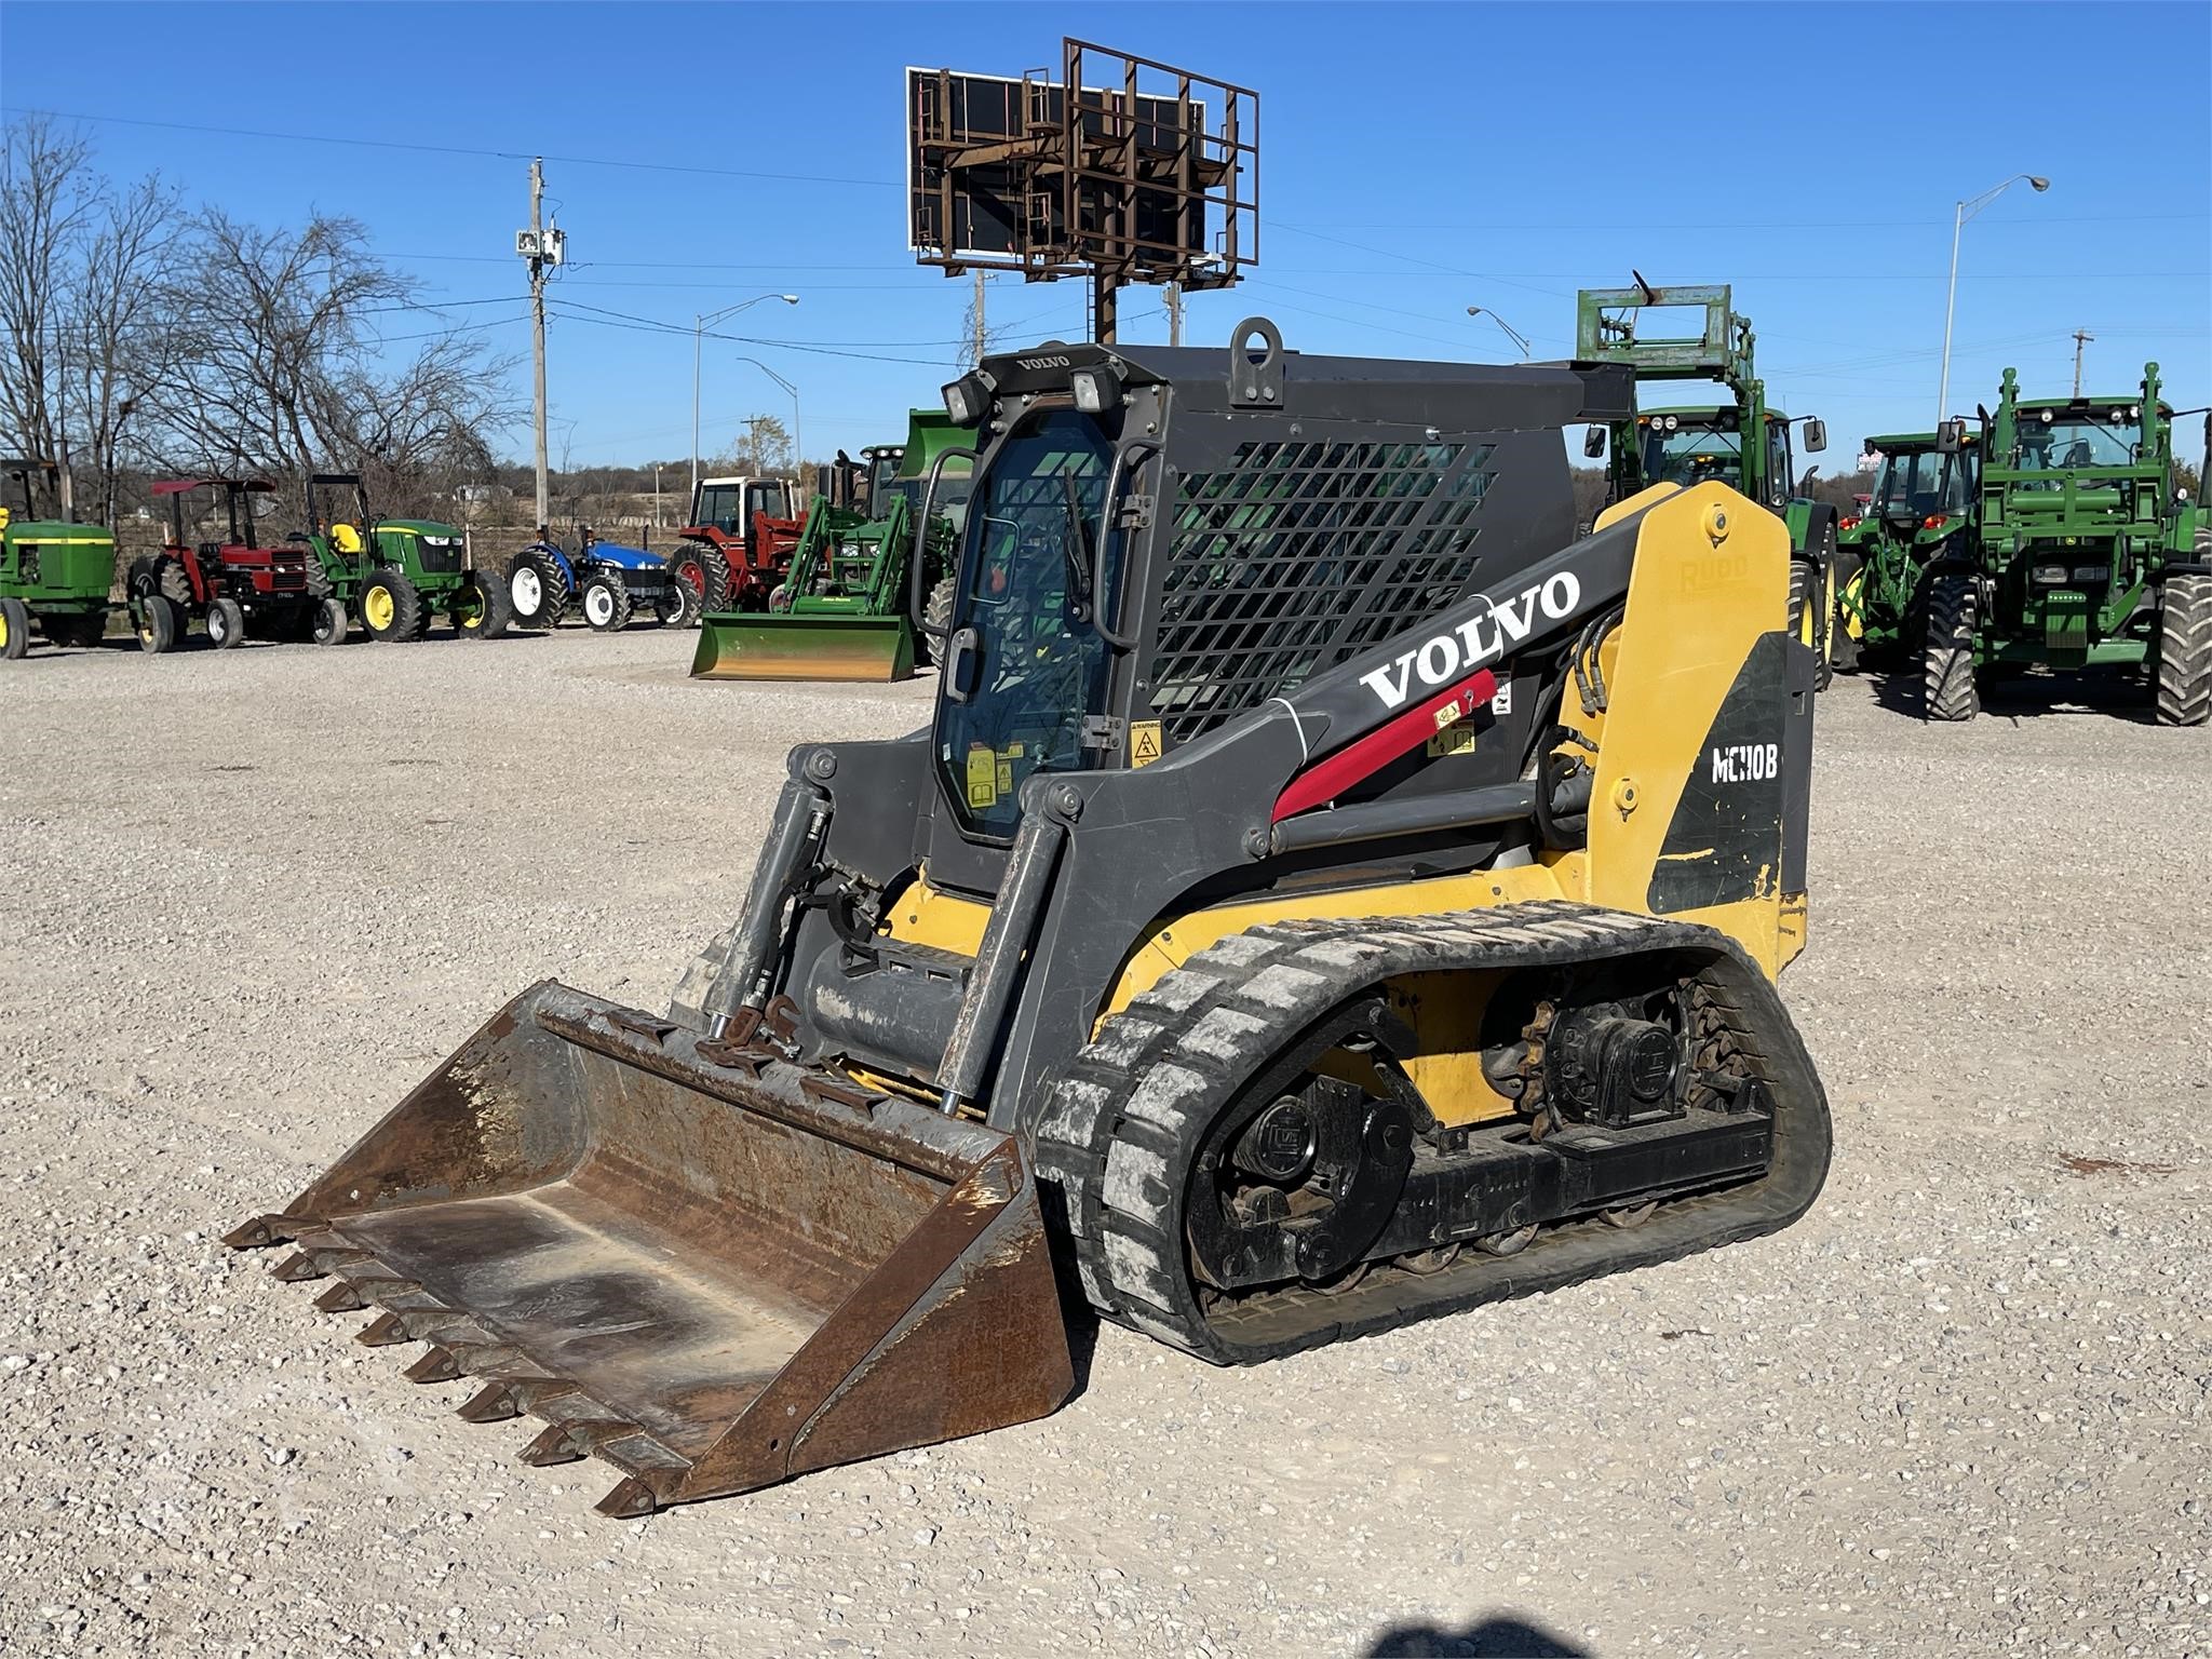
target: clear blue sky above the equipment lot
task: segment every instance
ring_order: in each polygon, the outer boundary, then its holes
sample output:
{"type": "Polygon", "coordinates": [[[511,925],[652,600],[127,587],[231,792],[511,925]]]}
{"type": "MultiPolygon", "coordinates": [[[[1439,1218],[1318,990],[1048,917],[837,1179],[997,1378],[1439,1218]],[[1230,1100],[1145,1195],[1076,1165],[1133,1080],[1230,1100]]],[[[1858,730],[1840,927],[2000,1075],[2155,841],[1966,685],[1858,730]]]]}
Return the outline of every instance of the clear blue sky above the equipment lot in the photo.
{"type": "MultiPolygon", "coordinates": [[[[1511,361],[1464,314],[1489,305],[1555,356],[1577,285],[1730,281],[1770,396],[1827,418],[1836,469],[1858,436],[1933,418],[1953,201],[2046,173],[2048,195],[2015,186],[1966,228],[1951,403],[1989,400],[2006,365],[2064,392],[2077,327],[2093,385],[2157,358],[2177,407],[2212,403],[2203,4],[0,7],[11,113],[524,157],[86,122],[115,175],[159,168],[263,223],[361,219],[515,354],[524,394],[526,157],[575,157],[546,161],[571,257],[555,465],[688,453],[692,314],[785,290],[796,307],[723,325],[770,343],[708,343],[708,449],[745,414],[790,418],[739,354],[799,385],[810,453],[898,436],[967,303],[905,248],[900,71],[1011,75],[1057,62],[1062,33],[1261,93],[1261,263],[1190,299],[1190,343],[1265,312],[1305,352],[1511,361]],[[84,62],[88,29],[119,46],[97,71],[24,73],[84,62]]],[[[1068,338],[1082,285],[1000,276],[991,312],[1009,343],[1068,338]]],[[[1157,290],[1121,316],[1124,341],[1166,338],[1157,290]]]]}

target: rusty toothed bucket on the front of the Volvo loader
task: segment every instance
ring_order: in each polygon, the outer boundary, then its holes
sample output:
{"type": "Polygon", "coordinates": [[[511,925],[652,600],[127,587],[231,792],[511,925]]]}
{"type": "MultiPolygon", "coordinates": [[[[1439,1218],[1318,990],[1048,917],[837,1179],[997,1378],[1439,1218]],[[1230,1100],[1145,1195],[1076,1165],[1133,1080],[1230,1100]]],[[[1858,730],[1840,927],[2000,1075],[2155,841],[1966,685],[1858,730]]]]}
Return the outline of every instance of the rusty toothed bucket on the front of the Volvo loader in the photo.
{"type": "Polygon", "coordinates": [[[407,1376],[622,1471],[606,1515],[1026,1422],[1073,1389],[1013,1137],[551,980],[281,1214],[285,1281],[407,1376]]]}

